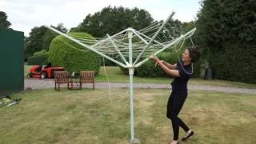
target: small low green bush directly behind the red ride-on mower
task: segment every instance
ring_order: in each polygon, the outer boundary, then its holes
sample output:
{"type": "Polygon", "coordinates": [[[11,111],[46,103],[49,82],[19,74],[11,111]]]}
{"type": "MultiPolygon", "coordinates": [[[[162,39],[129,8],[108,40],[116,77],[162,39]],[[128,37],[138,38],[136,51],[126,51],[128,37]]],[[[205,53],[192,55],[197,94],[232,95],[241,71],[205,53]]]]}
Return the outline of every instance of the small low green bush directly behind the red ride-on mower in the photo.
{"type": "Polygon", "coordinates": [[[48,63],[49,54],[46,50],[42,50],[33,54],[32,57],[28,58],[27,62],[29,65],[46,65],[48,63]]]}

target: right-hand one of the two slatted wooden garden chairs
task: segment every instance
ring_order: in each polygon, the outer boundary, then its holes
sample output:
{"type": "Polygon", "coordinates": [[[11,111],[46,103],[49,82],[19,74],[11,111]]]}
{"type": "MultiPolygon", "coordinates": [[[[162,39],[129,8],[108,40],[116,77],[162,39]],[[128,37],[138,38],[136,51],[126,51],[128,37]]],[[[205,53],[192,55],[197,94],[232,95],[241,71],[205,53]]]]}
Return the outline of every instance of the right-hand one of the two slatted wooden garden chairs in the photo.
{"type": "Polygon", "coordinates": [[[81,71],[80,72],[80,89],[82,89],[82,83],[93,83],[93,89],[94,89],[94,78],[95,72],[94,71],[81,71]]]}

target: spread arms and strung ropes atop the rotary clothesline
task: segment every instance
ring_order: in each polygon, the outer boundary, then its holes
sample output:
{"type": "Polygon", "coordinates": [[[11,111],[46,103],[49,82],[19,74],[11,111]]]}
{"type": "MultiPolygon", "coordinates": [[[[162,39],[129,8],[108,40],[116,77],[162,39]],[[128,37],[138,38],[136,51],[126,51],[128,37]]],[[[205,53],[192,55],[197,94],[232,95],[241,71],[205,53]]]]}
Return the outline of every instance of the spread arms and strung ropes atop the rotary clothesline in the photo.
{"type": "MultiPolygon", "coordinates": [[[[166,21],[166,23],[168,23],[168,21],[166,21]]],[[[102,55],[104,58],[107,58],[110,61],[113,61],[122,67],[130,66],[130,64],[128,64],[127,58],[129,56],[129,32],[133,33],[132,51],[133,58],[136,58],[136,61],[133,63],[133,66],[138,67],[141,66],[142,63],[146,62],[151,54],[158,54],[163,50],[176,47],[180,42],[182,42],[183,46],[185,40],[188,38],[190,38],[192,45],[194,45],[191,36],[194,34],[195,31],[195,29],[193,29],[186,34],[180,35],[178,38],[168,40],[164,33],[169,33],[170,36],[170,31],[166,30],[166,27],[164,27],[164,22],[153,22],[150,26],[147,26],[146,28],[138,31],[132,28],[128,28],[118,34],[114,34],[113,36],[106,36],[105,38],[82,37],[80,35],[76,35],[73,33],[63,34],[62,32],[55,30],[52,27],[48,28],[54,31],[55,36],[59,34],[64,36],[60,38],[60,40],[66,46],[70,46],[70,48],[74,50],[79,50],[81,52],[94,51],[102,55]],[[162,29],[159,30],[159,27],[161,27],[162,29]],[[164,35],[162,39],[159,37],[158,34],[156,34],[157,30],[158,32],[164,35]],[[162,33],[162,31],[165,30],[166,32],[162,33]],[[154,35],[153,38],[152,35],[154,35]],[[82,47],[85,47],[85,49],[72,46],[70,42],[67,42],[66,38],[78,43],[78,45],[81,45],[82,47]]]]}

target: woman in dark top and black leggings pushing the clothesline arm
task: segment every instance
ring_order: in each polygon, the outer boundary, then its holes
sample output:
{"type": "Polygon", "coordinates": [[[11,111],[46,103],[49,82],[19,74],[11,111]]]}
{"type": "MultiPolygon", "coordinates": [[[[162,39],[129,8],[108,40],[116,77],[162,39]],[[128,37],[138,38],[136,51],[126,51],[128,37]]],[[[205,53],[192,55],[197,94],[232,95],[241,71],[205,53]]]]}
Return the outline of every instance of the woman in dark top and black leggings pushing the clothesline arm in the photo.
{"type": "Polygon", "coordinates": [[[194,46],[186,49],[182,54],[182,62],[179,61],[174,65],[159,60],[155,55],[150,57],[154,60],[154,62],[157,62],[157,64],[166,72],[166,74],[175,77],[174,81],[171,83],[172,92],[167,103],[166,113],[167,118],[170,118],[172,122],[174,131],[174,140],[171,142],[171,144],[178,143],[179,126],[186,131],[186,136],[182,138],[182,141],[186,141],[186,139],[190,138],[194,134],[194,131],[190,130],[190,128],[186,126],[185,122],[182,122],[182,119],[178,118],[178,113],[182,110],[182,106],[186,101],[187,82],[193,73],[192,63],[197,62],[200,55],[201,54],[198,51],[198,46],[194,46]]]}

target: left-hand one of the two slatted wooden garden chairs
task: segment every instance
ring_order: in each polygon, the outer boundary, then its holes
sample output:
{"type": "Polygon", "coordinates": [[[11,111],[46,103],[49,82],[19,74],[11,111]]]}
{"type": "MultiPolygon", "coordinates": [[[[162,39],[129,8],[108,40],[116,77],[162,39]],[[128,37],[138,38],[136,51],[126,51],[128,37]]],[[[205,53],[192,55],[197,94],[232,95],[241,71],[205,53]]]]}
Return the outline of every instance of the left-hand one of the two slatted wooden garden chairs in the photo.
{"type": "Polygon", "coordinates": [[[70,89],[70,83],[72,83],[72,80],[70,79],[67,71],[54,71],[54,82],[55,90],[60,90],[60,85],[65,83],[67,83],[67,88],[70,89]]]}

